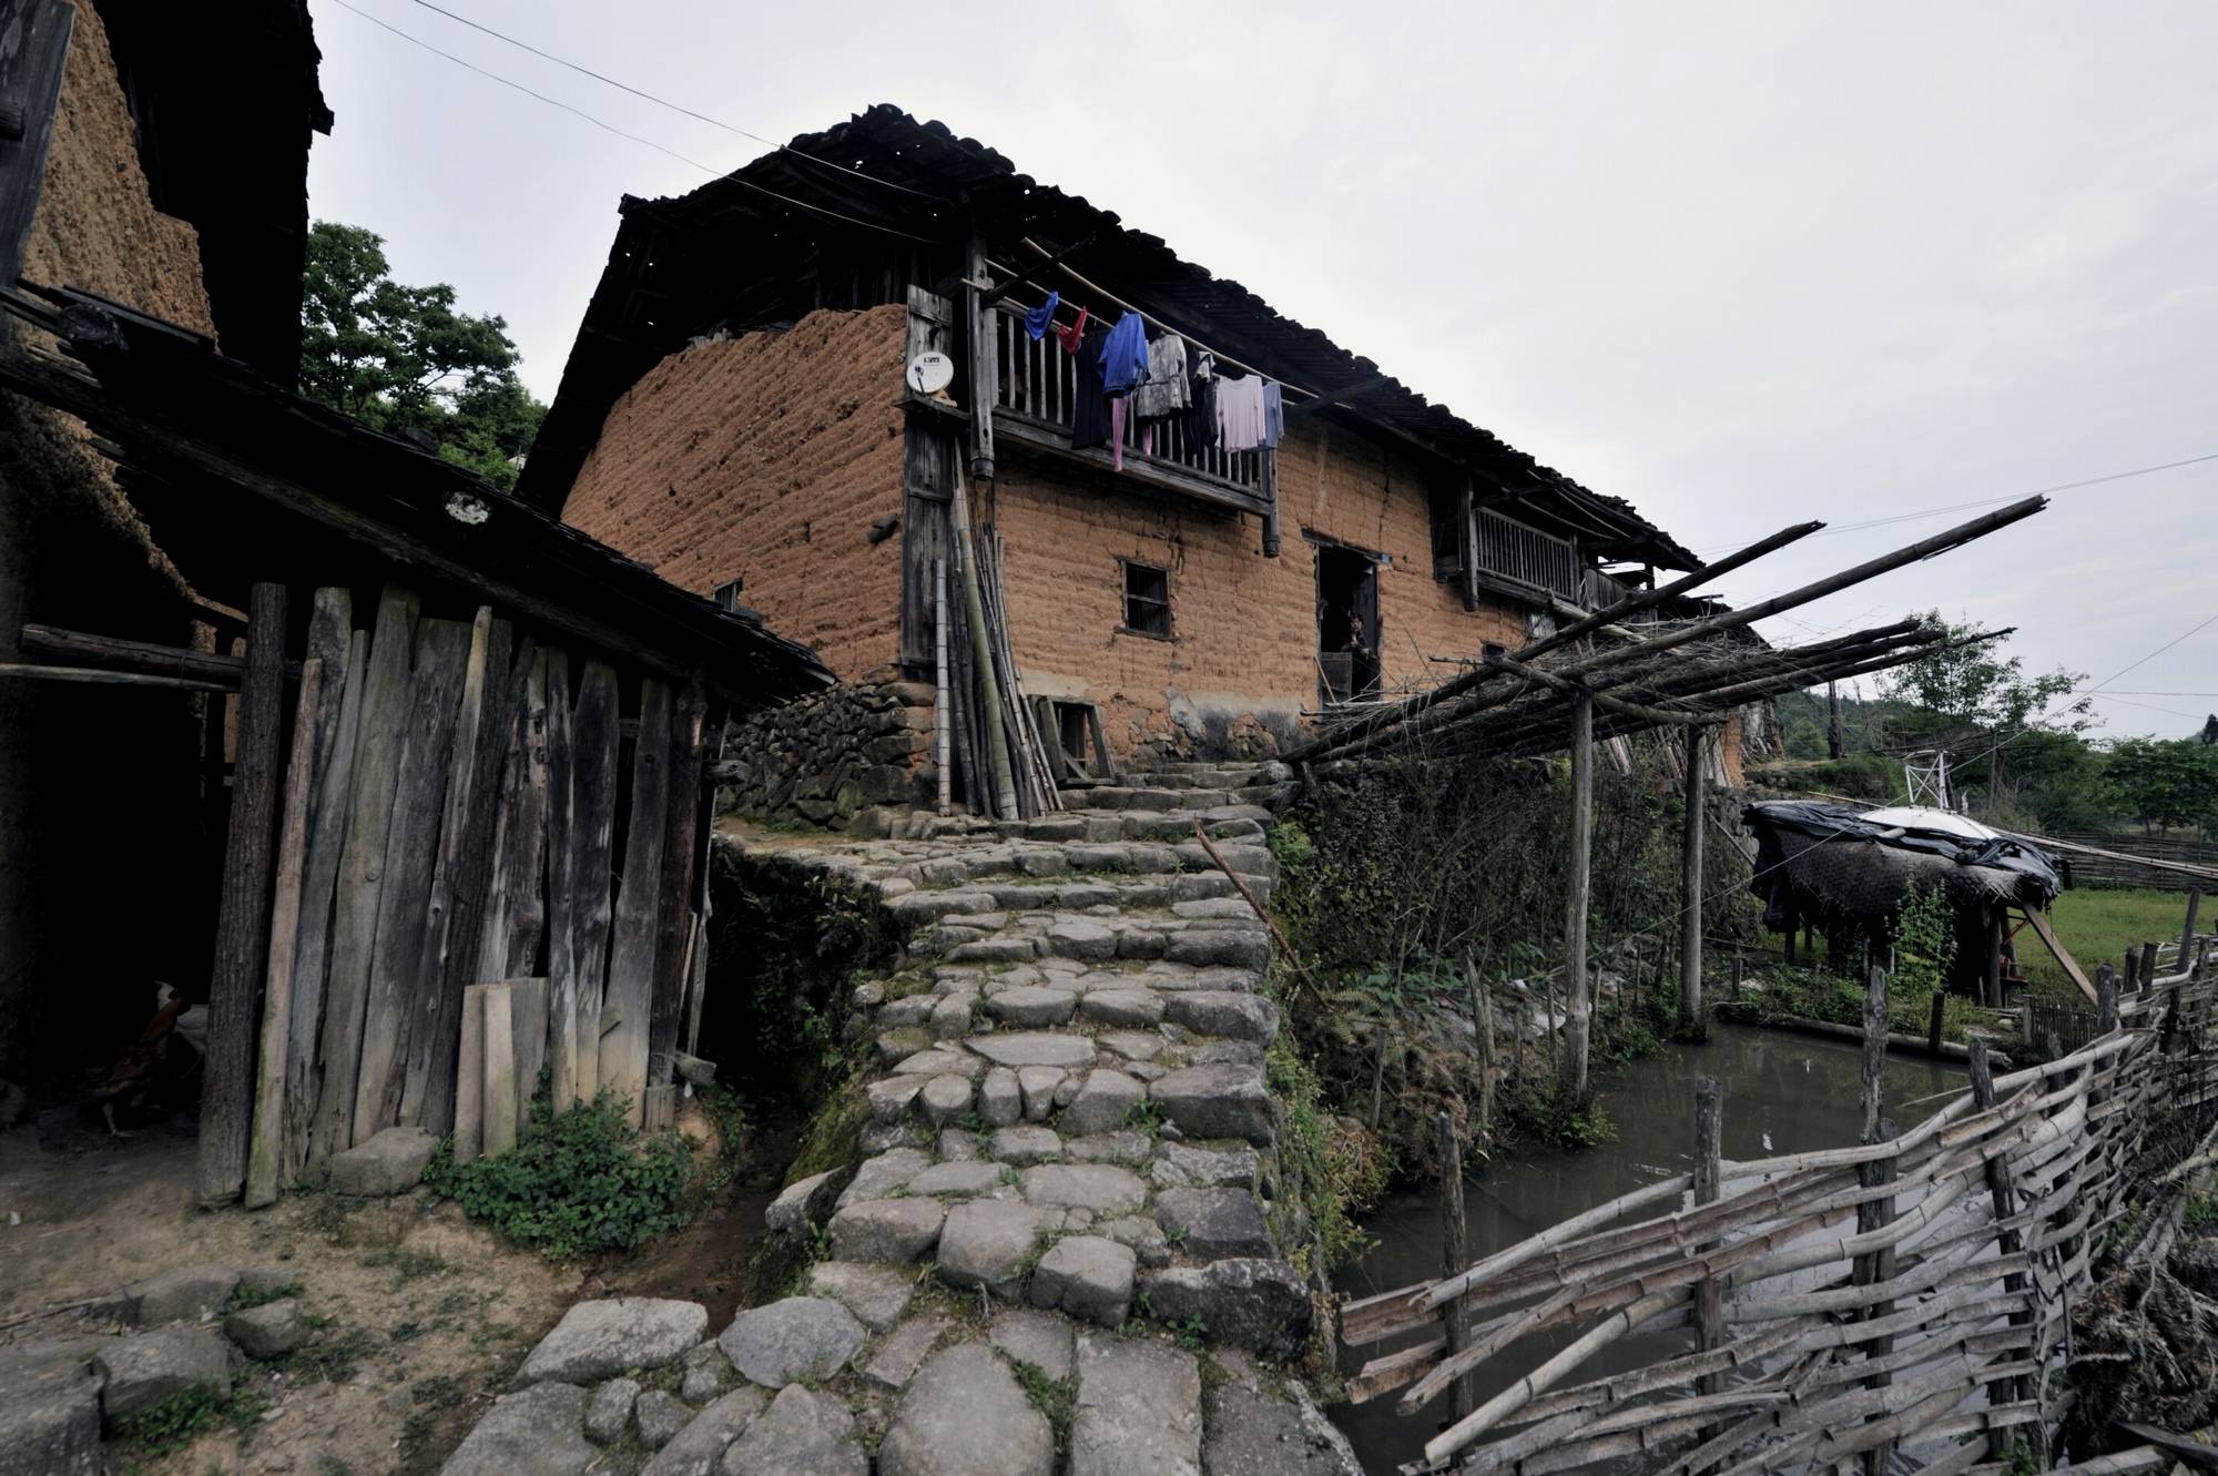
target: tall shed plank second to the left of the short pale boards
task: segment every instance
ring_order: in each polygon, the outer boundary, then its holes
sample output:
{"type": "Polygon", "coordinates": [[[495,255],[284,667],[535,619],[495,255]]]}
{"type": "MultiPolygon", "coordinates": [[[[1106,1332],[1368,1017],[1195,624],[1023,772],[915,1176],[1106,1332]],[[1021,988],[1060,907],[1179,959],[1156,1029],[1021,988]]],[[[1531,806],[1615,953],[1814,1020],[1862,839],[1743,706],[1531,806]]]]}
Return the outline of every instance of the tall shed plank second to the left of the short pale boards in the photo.
{"type": "Polygon", "coordinates": [[[401,729],[393,822],[386,831],[384,884],[377,889],[377,937],[362,1011],[362,1064],[355,1070],[355,1144],[399,1121],[408,1075],[408,1028],[415,1024],[415,975],[430,926],[430,884],[439,864],[439,820],[461,711],[461,676],[470,627],[459,621],[417,623],[415,680],[401,729]]]}

